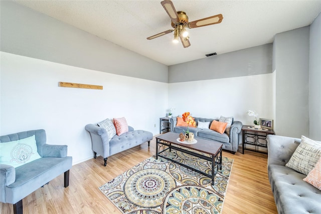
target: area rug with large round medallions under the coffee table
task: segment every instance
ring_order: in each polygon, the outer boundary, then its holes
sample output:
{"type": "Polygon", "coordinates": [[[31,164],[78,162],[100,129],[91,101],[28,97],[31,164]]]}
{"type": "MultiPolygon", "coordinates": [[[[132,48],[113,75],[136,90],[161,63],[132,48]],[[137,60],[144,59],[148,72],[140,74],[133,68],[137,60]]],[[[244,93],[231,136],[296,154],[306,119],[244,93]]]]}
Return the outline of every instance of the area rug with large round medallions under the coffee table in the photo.
{"type": "MultiPolygon", "coordinates": [[[[211,172],[211,163],[182,152],[166,156],[211,172]]],[[[221,213],[233,159],[222,158],[222,171],[211,179],[154,156],[142,161],[99,189],[123,213],[221,213]]]]}

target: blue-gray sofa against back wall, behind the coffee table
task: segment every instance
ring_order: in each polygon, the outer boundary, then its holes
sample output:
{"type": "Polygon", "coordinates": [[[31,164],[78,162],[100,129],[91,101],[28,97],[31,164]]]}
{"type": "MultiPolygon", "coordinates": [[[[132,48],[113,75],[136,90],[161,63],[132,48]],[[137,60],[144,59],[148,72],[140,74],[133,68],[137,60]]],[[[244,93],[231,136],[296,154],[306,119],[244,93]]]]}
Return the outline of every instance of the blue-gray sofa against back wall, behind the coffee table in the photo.
{"type": "MultiPolygon", "coordinates": [[[[210,126],[212,121],[214,120],[214,119],[202,118],[202,117],[194,117],[194,119],[196,121],[196,125],[198,125],[198,122],[210,122],[210,126]]],[[[187,127],[185,126],[176,126],[177,117],[172,117],[170,119],[170,123],[171,123],[172,132],[184,133],[184,131],[187,130],[187,127]]],[[[195,137],[203,138],[206,140],[219,141],[220,143],[223,143],[223,149],[229,150],[233,154],[235,154],[235,152],[239,148],[239,141],[241,139],[240,138],[241,130],[242,130],[242,123],[240,121],[233,121],[230,129],[230,135],[226,133],[220,134],[211,129],[200,129],[200,128],[189,127],[189,131],[193,132],[195,137]]]]}

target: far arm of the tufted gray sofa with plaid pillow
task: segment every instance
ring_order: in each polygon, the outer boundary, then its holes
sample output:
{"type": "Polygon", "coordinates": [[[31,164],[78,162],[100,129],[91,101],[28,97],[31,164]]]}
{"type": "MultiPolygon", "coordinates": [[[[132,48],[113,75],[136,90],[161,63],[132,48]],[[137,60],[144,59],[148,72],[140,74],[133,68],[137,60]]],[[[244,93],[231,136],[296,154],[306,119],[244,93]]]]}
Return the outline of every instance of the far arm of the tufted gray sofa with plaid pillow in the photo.
{"type": "Polygon", "coordinates": [[[285,166],[300,142],[299,138],[267,135],[267,165],[285,166]]]}

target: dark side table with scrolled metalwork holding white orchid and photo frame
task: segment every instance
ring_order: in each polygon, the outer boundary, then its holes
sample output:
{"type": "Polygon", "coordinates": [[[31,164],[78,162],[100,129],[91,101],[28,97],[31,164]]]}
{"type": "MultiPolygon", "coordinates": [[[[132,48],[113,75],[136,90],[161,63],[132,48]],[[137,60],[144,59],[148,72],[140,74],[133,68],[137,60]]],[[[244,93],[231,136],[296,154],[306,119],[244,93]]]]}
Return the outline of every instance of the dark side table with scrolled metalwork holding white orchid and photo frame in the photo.
{"type": "MultiPolygon", "coordinates": [[[[269,134],[275,134],[272,129],[266,131],[260,129],[249,128],[250,125],[242,126],[243,145],[242,153],[244,149],[266,153],[267,154],[267,139],[266,136],[269,134]]],[[[253,126],[252,126],[253,127],[253,126]]]]}

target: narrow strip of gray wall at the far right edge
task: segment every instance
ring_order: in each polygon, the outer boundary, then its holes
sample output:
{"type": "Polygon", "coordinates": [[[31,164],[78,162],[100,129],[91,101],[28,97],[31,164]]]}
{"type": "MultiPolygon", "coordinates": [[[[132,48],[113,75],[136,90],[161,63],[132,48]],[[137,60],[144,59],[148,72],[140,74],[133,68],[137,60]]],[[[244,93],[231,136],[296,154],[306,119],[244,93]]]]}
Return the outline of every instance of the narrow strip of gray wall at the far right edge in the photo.
{"type": "Polygon", "coordinates": [[[321,141],[321,13],[310,26],[309,128],[310,138],[321,141]]]}

